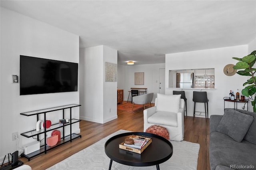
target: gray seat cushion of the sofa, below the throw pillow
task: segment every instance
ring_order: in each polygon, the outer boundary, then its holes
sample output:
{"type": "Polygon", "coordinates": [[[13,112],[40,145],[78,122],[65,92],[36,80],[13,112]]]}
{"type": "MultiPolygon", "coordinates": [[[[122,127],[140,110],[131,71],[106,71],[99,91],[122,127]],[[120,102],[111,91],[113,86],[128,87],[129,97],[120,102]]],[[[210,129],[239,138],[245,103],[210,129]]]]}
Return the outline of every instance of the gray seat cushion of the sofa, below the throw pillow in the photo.
{"type": "Polygon", "coordinates": [[[256,168],[255,153],[255,144],[246,143],[244,140],[236,142],[230,136],[216,131],[210,134],[209,157],[211,170],[215,170],[218,165],[227,167],[230,167],[230,165],[252,165],[256,168]]]}

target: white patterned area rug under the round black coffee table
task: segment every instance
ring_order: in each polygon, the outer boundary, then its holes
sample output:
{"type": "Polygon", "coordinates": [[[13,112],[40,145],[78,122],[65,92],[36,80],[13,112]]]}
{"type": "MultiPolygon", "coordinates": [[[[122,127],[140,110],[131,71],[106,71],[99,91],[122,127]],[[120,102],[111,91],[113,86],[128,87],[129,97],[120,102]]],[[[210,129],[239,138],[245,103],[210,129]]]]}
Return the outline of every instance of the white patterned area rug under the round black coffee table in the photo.
{"type": "MultiPolygon", "coordinates": [[[[118,130],[47,170],[108,170],[110,158],[105,154],[104,144],[110,137],[125,132],[130,131],[118,130]]],[[[172,157],[159,164],[160,170],[196,170],[200,145],[187,141],[171,142],[173,145],[172,157]]],[[[126,166],[113,161],[111,170],[156,170],[156,166],[126,166]]]]}

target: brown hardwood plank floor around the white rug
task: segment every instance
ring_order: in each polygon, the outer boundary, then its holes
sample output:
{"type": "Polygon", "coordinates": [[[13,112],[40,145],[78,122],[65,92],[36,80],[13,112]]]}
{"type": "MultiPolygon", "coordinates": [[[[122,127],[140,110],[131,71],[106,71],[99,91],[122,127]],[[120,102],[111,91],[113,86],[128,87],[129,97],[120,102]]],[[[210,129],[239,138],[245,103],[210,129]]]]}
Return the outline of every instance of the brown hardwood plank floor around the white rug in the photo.
{"type": "MultiPolygon", "coordinates": [[[[184,140],[200,144],[198,170],[210,170],[208,153],[209,121],[210,119],[206,121],[205,118],[195,118],[193,120],[193,117],[185,117],[184,119],[184,140]]],[[[105,124],[81,121],[80,134],[82,138],[58,146],[48,151],[47,154],[40,154],[30,161],[24,157],[19,159],[24,164],[31,166],[32,170],[43,170],[120,129],[143,131],[143,109],[135,113],[118,111],[118,119],[105,124]]]]}

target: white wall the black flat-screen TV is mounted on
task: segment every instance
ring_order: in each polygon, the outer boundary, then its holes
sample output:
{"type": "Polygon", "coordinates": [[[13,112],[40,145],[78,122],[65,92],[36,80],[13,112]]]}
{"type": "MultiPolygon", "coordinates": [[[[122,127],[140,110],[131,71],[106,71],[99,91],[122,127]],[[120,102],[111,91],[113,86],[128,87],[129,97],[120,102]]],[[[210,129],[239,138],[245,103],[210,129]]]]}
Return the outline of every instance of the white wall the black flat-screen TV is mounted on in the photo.
{"type": "MultiPolygon", "coordinates": [[[[12,74],[19,76],[20,55],[79,63],[79,37],[1,7],[0,54],[0,156],[3,158],[5,154],[17,150],[16,141],[12,141],[13,132],[20,134],[36,128],[36,116],[26,117],[20,113],[79,104],[79,91],[20,96],[19,83],[11,81],[12,74]]],[[[76,119],[79,118],[79,108],[73,109],[72,113],[76,119]]],[[[47,119],[52,123],[61,118],[49,115],[47,119]]],[[[79,123],[72,127],[74,132],[80,132],[79,123]]],[[[18,137],[20,146],[34,141],[18,137]]]]}

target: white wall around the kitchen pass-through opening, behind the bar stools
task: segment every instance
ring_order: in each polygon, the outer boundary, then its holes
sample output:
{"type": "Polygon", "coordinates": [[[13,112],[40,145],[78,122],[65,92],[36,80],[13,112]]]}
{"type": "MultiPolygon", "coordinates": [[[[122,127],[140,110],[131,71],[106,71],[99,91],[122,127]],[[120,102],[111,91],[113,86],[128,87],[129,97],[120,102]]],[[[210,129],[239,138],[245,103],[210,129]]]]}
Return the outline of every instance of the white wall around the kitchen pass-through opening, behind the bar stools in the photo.
{"type": "MultiPolygon", "coordinates": [[[[215,69],[215,89],[202,89],[207,91],[209,99],[209,117],[210,115],[224,114],[224,100],[223,97],[228,97],[230,90],[234,93],[243,89],[243,83],[246,82],[247,77],[235,74],[233,76],[226,76],[223,73],[223,68],[227,64],[236,64],[237,61],[232,57],[244,57],[248,55],[248,45],[240,45],[234,47],[223,47],[216,49],[206,49],[200,51],[189,51],[182,53],[166,54],[166,87],[168,87],[168,72],[176,69],[215,69]]],[[[166,94],[172,94],[174,89],[166,89],[166,94]]],[[[188,116],[193,116],[194,102],[193,91],[195,89],[185,89],[188,104],[188,116]]],[[[202,104],[202,103],[201,103],[202,104]]],[[[203,104],[196,104],[197,111],[204,111],[203,104]]],[[[250,106],[250,103],[249,103],[250,106]]],[[[226,108],[234,107],[233,103],[226,102],[226,108]]],[[[242,108],[242,104],[238,105],[238,109],[242,108]]],[[[252,108],[249,107],[252,111],[252,108]]]]}

